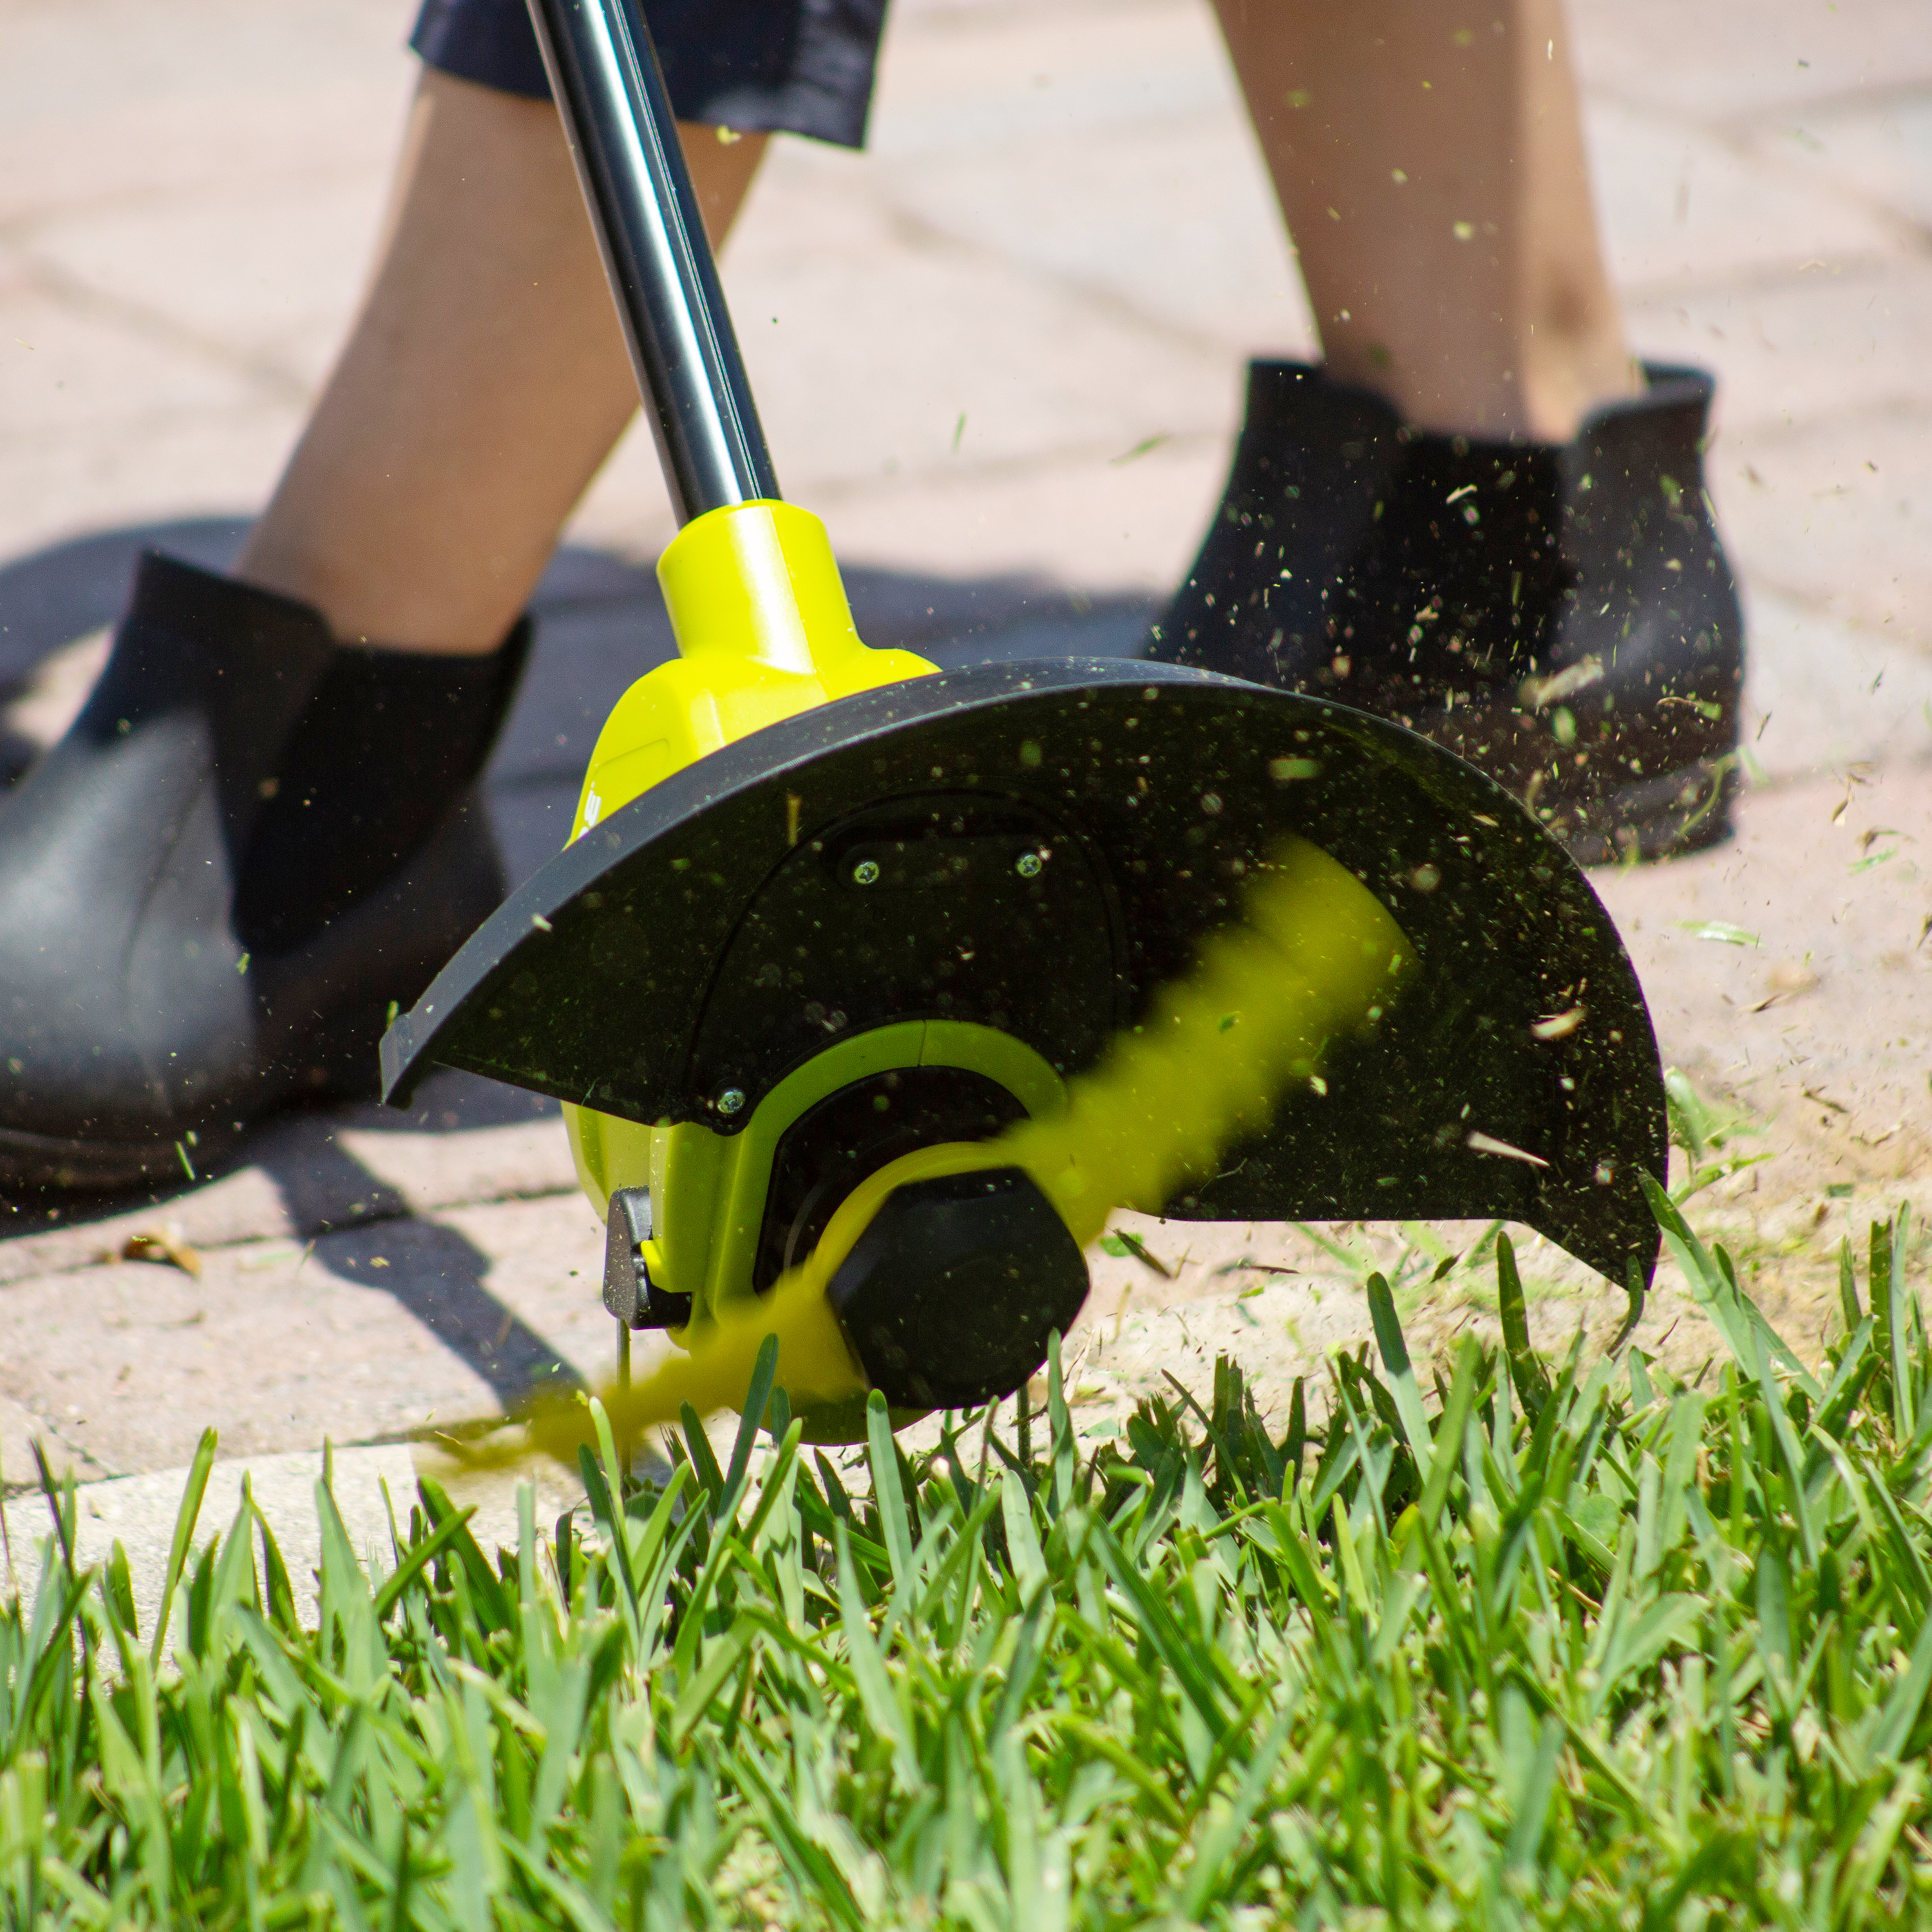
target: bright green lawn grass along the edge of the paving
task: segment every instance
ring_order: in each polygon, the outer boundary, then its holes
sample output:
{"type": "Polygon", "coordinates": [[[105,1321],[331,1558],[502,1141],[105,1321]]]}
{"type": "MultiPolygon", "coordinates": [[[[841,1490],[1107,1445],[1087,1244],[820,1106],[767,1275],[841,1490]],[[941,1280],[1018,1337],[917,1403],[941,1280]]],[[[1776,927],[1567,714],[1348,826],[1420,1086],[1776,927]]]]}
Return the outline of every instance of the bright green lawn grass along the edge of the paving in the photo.
{"type": "MultiPolygon", "coordinates": [[[[1932,1917],[1932,1349],[1903,1229],[1814,1376],[1658,1198],[1731,1358],[1223,1364],[1080,1461],[773,1447],[481,1551],[423,1484],[319,1629],[247,1505],[174,1663],[126,1563],[0,1613],[0,1920],[1859,1926],[1932,1917]],[[1428,1385],[1424,1385],[1428,1381],[1428,1385]],[[869,1472],[867,1472],[869,1463],[869,1472]],[[864,1492],[864,1493],[850,1493],[864,1492]]],[[[205,1445],[205,1457],[213,1443],[205,1445]]],[[[205,1468],[205,1461],[201,1464],[205,1468]]],[[[191,1486],[191,1503],[195,1497],[191,1486]]],[[[68,1505],[71,1509],[71,1503],[68,1505]]]]}

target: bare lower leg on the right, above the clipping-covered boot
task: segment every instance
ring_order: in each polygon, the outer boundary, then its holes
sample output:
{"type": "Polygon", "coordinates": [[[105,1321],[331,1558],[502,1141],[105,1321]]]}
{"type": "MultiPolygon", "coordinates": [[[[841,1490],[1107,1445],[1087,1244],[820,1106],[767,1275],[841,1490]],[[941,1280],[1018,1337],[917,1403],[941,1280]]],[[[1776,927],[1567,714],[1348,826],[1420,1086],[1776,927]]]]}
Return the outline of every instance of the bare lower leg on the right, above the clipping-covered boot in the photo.
{"type": "Polygon", "coordinates": [[[1631,396],[1561,0],[1215,0],[1329,371],[1567,442],[1631,396]]]}

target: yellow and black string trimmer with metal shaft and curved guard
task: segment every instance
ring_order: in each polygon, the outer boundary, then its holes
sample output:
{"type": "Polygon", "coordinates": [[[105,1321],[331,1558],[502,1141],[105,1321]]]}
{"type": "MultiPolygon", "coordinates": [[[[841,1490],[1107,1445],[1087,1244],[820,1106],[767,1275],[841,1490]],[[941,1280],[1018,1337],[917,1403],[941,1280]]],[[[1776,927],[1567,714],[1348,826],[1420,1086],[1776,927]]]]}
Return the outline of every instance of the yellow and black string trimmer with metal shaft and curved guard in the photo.
{"type": "Polygon", "coordinates": [[[1325,699],[864,645],[779,497],[634,0],[531,14],[682,522],[682,655],[394,1022],[386,1097],[439,1063],[566,1103],[626,1360],[755,1327],[810,1264],[844,1385],[902,1414],[1020,1387],[1113,1206],[1511,1219],[1648,1283],[1656,1041],[1565,852],[1325,699]]]}

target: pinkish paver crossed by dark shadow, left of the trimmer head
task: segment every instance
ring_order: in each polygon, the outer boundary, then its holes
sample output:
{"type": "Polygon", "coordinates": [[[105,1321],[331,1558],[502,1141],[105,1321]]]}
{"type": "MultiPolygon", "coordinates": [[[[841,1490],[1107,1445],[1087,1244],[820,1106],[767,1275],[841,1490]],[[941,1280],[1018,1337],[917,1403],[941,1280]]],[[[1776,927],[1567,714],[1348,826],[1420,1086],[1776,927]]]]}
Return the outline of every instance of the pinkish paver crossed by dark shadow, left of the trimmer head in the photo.
{"type": "Polygon", "coordinates": [[[15,1281],[0,1393],[114,1472],[185,1463],[207,1424],[238,1453],[381,1441],[605,1374],[601,1279],[603,1231],[568,1194],[211,1248],[199,1279],[15,1281]]]}

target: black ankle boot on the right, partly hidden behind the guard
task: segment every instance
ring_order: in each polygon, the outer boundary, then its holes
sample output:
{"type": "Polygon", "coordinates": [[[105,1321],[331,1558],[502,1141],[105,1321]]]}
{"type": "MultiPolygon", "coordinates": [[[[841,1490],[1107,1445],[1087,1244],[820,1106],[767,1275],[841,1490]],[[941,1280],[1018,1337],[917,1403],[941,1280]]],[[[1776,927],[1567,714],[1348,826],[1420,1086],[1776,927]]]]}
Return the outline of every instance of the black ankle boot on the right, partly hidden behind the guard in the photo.
{"type": "Polygon", "coordinates": [[[1399,719],[1584,864],[1723,838],[1745,651],[1704,495],[1712,381],[1648,377],[1549,446],[1408,429],[1320,369],[1254,363],[1148,655],[1399,719]]]}

